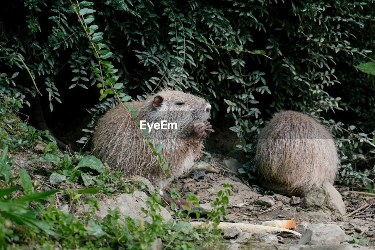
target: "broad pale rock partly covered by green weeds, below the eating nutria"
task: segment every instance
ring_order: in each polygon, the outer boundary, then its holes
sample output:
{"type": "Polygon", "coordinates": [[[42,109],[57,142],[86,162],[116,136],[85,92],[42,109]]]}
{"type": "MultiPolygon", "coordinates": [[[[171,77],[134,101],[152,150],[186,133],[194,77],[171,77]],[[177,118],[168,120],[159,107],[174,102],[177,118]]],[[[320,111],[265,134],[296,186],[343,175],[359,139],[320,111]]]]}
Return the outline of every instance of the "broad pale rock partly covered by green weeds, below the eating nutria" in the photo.
{"type": "MultiPolygon", "coordinates": [[[[99,219],[104,219],[108,212],[107,210],[118,209],[121,214],[127,215],[133,219],[138,220],[139,218],[145,217],[144,212],[141,208],[149,209],[146,205],[147,195],[142,191],[134,191],[132,194],[118,194],[114,196],[105,196],[103,200],[98,200],[99,211],[95,212],[95,216],[99,219]]],[[[77,208],[78,212],[87,211],[89,206],[87,204],[77,208]]],[[[159,214],[167,221],[172,219],[169,211],[160,206],[159,214]]],[[[152,223],[151,217],[144,218],[145,221],[152,223]]]]}

